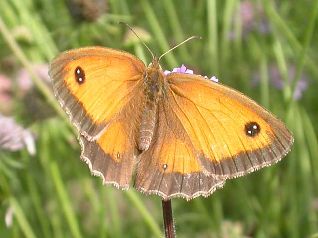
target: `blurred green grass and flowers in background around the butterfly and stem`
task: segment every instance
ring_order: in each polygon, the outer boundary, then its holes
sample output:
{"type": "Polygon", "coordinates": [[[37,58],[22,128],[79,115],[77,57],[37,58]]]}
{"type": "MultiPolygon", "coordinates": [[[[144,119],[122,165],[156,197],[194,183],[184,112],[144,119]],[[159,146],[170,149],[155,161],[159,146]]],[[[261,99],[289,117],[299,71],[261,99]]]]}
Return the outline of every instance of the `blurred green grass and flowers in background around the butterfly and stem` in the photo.
{"type": "Polygon", "coordinates": [[[318,238],[317,0],[0,0],[0,237],[163,236],[161,200],[102,186],[80,161],[48,62],[101,45],[216,76],[293,132],[281,162],[208,198],[173,199],[180,238],[318,238]]]}

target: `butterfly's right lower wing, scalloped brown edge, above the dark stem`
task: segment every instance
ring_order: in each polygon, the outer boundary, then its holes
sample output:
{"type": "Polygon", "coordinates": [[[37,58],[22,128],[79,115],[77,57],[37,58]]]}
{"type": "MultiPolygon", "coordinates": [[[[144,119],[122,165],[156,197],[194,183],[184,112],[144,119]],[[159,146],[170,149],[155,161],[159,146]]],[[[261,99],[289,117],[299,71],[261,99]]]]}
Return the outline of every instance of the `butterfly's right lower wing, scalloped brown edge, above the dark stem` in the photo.
{"type": "Polygon", "coordinates": [[[156,194],[164,200],[187,200],[208,196],[224,184],[202,172],[189,136],[165,100],[160,100],[157,120],[149,149],[139,157],[135,189],[156,194]]]}

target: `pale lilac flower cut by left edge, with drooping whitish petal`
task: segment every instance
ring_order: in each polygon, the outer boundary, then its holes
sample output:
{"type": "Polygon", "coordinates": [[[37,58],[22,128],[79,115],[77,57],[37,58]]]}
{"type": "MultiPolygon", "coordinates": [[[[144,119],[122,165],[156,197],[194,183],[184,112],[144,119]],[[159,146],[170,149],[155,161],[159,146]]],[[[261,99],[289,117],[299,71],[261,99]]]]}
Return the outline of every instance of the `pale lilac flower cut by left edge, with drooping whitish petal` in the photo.
{"type": "Polygon", "coordinates": [[[17,151],[26,146],[35,155],[34,136],[31,131],[16,124],[13,118],[0,114],[0,149],[17,151]]]}

